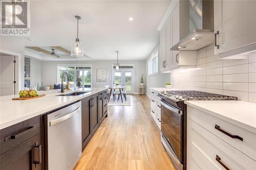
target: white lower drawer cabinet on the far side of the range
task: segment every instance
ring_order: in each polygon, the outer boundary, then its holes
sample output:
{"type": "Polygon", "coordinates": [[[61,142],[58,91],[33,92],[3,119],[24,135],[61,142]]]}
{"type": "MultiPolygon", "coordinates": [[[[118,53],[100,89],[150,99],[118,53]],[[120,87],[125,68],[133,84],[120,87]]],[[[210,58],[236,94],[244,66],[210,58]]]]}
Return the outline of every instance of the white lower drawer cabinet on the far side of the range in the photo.
{"type": "Polygon", "coordinates": [[[158,91],[151,89],[151,115],[157,127],[161,130],[161,98],[157,94],[158,91]]]}

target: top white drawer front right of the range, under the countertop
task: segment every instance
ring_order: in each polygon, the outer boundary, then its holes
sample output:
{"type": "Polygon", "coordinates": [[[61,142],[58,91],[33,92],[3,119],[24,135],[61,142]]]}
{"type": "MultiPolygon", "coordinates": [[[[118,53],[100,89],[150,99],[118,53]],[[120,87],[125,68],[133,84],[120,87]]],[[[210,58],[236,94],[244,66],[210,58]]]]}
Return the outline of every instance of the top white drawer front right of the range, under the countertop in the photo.
{"type": "Polygon", "coordinates": [[[187,113],[188,118],[256,161],[256,134],[190,106],[187,113]]]}

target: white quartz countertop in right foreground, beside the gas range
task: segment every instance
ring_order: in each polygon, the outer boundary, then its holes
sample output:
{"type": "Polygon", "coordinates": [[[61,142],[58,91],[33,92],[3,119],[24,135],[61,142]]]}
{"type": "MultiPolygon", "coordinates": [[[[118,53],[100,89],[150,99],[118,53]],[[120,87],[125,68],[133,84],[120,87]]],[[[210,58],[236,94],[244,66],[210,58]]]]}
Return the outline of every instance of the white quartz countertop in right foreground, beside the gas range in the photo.
{"type": "Polygon", "coordinates": [[[244,101],[185,101],[185,104],[256,133],[256,103],[244,101]]]}

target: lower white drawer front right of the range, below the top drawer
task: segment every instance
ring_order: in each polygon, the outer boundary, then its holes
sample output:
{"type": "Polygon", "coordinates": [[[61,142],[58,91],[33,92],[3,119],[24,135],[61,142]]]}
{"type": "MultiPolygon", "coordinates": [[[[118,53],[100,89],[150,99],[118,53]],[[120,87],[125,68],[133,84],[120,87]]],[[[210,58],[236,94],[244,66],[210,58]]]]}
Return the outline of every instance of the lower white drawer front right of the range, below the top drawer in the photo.
{"type": "MultiPolygon", "coordinates": [[[[202,128],[193,120],[187,120],[188,156],[195,154],[207,167],[206,169],[255,169],[256,162],[231,145],[202,128]],[[218,160],[217,160],[218,159],[218,160]]],[[[193,167],[192,158],[188,157],[188,165],[193,167]]],[[[194,156],[194,160],[196,156],[194,156]]],[[[200,162],[199,162],[200,163],[200,162]]],[[[203,165],[200,165],[204,167],[203,165]]],[[[188,169],[191,169],[191,168],[188,169]]]]}

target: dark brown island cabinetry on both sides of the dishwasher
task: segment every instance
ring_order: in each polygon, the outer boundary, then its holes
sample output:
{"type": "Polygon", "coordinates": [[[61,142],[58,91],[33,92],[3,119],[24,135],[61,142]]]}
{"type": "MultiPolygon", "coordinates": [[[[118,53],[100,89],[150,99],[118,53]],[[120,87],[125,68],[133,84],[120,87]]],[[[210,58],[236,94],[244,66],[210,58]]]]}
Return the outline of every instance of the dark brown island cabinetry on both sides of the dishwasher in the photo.
{"type": "MultiPolygon", "coordinates": [[[[81,99],[82,150],[108,115],[107,95],[104,90],[81,99]]],[[[0,130],[0,170],[44,169],[42,115],[0,130]]]]}

